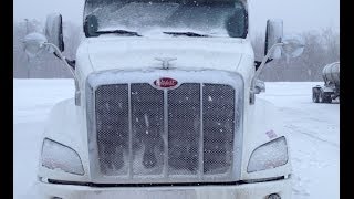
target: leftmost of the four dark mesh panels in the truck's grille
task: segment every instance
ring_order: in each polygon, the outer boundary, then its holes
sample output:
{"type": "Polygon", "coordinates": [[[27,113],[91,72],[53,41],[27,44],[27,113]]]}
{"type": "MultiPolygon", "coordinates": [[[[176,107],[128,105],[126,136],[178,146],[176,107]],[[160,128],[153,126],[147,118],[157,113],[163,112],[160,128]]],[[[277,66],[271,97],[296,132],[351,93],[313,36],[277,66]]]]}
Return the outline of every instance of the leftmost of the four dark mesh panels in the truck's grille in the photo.
{"type": "Polygon", "coordinates": [[[102,85],[96,90],[96,130],[101,171],[128,171],[128,86],[102,85]]]}

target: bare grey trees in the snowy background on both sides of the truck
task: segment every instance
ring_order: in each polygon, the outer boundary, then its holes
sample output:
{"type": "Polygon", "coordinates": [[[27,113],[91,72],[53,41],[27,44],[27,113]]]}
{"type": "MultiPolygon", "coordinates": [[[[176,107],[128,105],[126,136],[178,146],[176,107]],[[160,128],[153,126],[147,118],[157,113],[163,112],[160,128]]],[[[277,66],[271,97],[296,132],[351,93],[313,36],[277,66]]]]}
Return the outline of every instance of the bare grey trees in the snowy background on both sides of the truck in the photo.
{"type": "MultiPolygon", "coordinates": [[[[14,78],[71,78],[70,71],[53,54],[43,53],[29,59],[24,53],[23,39],[31,32],[43,32],[37,20],[24,20],[13,24],[13,77],[14,78]]],[[[76,49],[84,38],[82,28],[70,21],[63,22],[64,56],[75,59],[76,49]]],[[[304,52],[295,59],[279,59],[268,63],[260,75],[263,81],[322,81],[324,65],[340,60],[340,33],[331,28],[305,31],[300,34],[305,42],[304,52]]],[[[264,55],[264,35],[251,36],[254,57],[264,55]]]]}

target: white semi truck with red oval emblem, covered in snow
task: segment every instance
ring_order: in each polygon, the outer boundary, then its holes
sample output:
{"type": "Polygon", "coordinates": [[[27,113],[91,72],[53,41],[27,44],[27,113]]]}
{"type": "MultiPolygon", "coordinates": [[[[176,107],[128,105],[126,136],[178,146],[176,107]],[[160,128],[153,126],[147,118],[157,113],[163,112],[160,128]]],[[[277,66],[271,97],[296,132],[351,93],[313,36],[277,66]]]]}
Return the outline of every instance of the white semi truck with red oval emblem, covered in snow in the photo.
{"type": "Polygon", "coordinates": [[[25,51],[61,59],[75,94],[45,126],[39,197],[291,198],[287,132],[256,95],[264,64],[303,44],[269,20],[254,61],[249,14],[246,0],[86,0],[75,60],[49,15],[25,51]]]}

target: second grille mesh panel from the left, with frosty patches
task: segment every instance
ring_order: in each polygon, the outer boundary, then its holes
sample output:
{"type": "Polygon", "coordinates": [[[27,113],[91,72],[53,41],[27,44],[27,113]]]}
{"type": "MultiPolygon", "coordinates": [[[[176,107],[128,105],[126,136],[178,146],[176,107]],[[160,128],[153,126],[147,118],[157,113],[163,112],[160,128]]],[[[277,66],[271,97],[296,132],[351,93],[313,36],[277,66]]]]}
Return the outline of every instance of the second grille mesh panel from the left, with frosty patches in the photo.
{"type": "Polygon", "coordinates": [[[132,84],[134,175],[159,175],[164,166],[164,91],[132,84]]]}

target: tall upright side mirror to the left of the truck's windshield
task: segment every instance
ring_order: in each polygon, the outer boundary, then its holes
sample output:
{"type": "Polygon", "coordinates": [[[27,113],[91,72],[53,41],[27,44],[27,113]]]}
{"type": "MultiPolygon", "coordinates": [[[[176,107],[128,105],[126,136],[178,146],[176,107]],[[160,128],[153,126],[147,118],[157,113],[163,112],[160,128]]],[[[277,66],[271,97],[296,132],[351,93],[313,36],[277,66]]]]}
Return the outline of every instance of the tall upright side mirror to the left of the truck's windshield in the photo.
{"type": "Polygon", "coordinates": [[[46,17],[44,33],[49,43],[58,46],[61,52],[64,51],[63,19],[60,13],[52,13],[46,17]]]}

